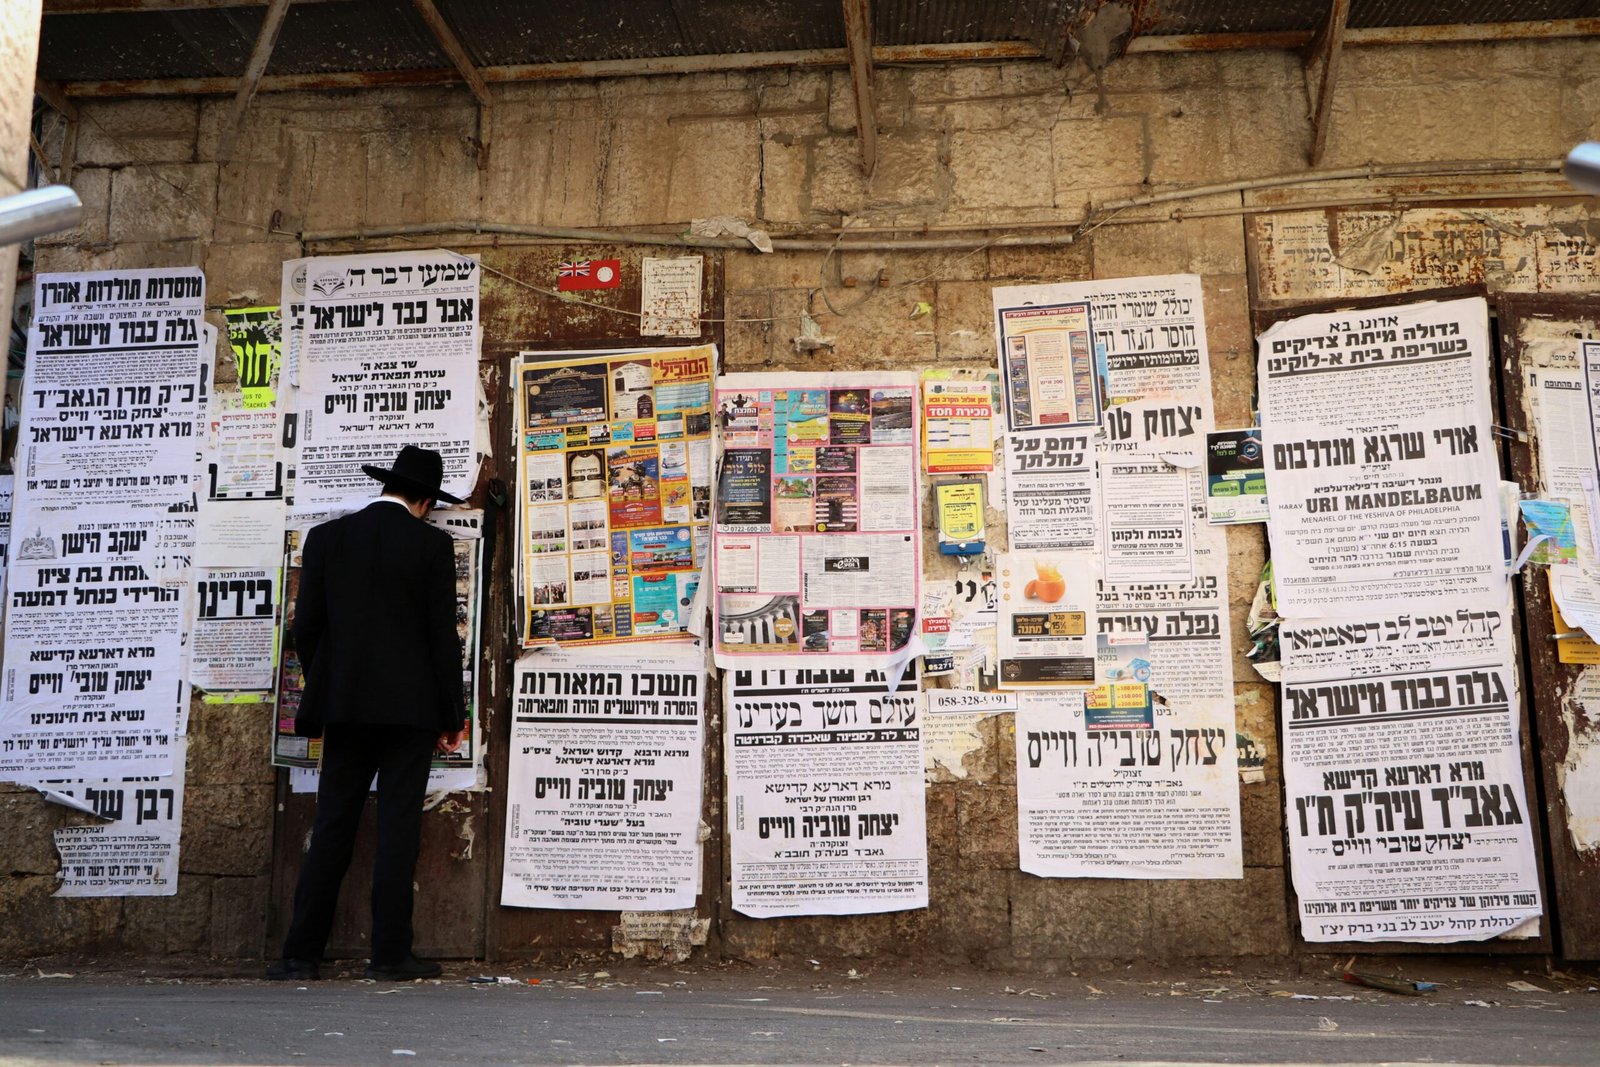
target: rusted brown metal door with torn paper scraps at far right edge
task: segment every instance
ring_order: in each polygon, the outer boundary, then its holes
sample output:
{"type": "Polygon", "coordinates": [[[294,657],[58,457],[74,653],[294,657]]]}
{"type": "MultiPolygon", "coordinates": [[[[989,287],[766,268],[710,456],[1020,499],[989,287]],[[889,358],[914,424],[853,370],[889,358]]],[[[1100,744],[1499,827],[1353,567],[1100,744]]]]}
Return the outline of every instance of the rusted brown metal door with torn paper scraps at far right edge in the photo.
{"type": "MultiPolygon", "coordinates": [[[[1584,339],[1600,339],[1600,299],[1570,296],[1499,296],[1496,299],[1510,470],[1525,494],[1542,496],[1549,446],[1533,426],[1539,374],[1576,371],[1584,339]]],[[[1550,427],[1546,426],[1549,430],[1550,427]]],[[[1571,427],[1587,440],[1587,427],[1571,427]]],[[[1582,537],[1584,531],[1578,531],[1582,537]]],[[[1600,681],[1584,664],[1560,662],[1550,589],[1544,568],[1525,568],[1520,584],[1523,662],[1538,750],[1538,787],[1546,811],[1546,856],[1554,889],[1560,955],[1600,960],[1600,702],[1586,689],[1600,681]]],[[[1600,686],[1597,686],[1600,696],[1600,686]]]]}

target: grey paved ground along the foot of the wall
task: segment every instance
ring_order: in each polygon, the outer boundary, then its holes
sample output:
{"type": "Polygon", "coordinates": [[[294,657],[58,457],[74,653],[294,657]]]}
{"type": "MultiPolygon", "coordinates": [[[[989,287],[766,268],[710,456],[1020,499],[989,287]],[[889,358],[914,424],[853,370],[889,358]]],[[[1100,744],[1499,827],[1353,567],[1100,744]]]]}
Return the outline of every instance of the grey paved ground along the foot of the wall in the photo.
{"type": "Polygon", "coordinates": [[[0,965],[0,1064],[1600,1064],[1600,981],[1526,961],[1360,965],[1438,984],[1421,997],[1344,984],[1328,960],[1050,979],[859,960],[242,977],[259,966],[0,965]]]}

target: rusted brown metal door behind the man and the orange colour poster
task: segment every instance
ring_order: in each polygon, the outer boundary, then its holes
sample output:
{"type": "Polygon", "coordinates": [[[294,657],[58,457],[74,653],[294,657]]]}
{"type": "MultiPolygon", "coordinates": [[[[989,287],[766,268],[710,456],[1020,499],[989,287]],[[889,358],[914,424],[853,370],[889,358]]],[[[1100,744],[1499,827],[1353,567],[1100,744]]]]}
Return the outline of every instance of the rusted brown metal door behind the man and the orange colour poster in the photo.
{"type": "MultiPolygon", "coordinates": [[[[699,338],[640,338],[640,261],[645,256],[694,254],[646,246],[573,246],[522,243],[474,246],[451,243],[454,251],[477,254],[483,264],[480,322],[483,347],[480,379],[488,400],[493,456],[486,461],[470,504],[485,509],[483,617],[478,659],[478,728],[486,744],[490,789],[485,793],[450,793],[424,814],[422,853],[418,861],[416,952],[443,958],[526,958],[546,949],[610,950],[614,912],[546,912],[502,909],[499,881],[506,829],[507,742],[510,739],[510,667],[517,657],[514,625],[510,539],[515,502],[512,443],[512,394],[507,366],[518,352],[534,349],[667,347],[714,342],[722,346],[723,264],[704,253],[702,334],[699,338]],[[610,290],[558,293],[558,266],[568,261],[621,261],[621,285],[610,290]]],[[[706,809],[720,809],[722,745],[720,705],[707,694],[706,809]]],[[[272,864],[272,913],[267,953],[274,955],[288,928],[294,878],[315,816],[315,798],[288,792],[278,784],[275,851],[272,864]]],[[[707,822],[715,825],[710,814],[707,822]]],[[[707,841],[699,915],[715,915],[722,885],[718,838],[707,841]]],[[[365,957],[370,952],[368,894],[373,857],[373,805],[363,817],[357,853],[339,897],[339,912],[328,942],[330,957],[365,957]]]]}

